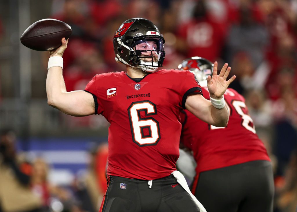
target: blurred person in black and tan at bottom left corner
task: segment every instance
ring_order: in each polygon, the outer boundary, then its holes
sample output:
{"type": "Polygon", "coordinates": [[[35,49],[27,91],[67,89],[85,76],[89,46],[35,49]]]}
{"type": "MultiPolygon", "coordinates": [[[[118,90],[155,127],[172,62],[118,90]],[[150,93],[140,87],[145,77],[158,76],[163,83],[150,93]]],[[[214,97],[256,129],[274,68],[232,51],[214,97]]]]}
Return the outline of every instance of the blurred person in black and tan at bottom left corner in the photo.
{"type": "Polygon", "coordinates": [[[0,202],[3,212],[37,212],[42,201],[30,190],[30,176],[21,171],[15,149],[15,133],[0,135],[0,202]]]}

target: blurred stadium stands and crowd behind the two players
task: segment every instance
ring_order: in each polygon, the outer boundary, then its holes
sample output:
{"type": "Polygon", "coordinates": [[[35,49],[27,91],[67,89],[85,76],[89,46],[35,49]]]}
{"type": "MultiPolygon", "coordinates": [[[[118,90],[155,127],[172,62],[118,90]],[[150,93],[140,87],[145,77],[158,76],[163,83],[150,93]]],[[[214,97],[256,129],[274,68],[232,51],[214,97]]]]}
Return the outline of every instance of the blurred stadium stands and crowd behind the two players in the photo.
{"type": "Polygon", "coordinates": [[[1,0],[0,162],[16,177],[0,165],[0,212],[98,211],[106,189],[109,123],[48,106],[49,54],[20,36],[44,18],[69,24],[64,79],[67,91],[83,90],[95,74],[125,70],[112,38],[132,17],[151,20],[165,37],[166,69],[191,56],[229,63],[237,76],[230,87],[246,98],[273,162],[275,212],[294,212],[297,0],[1,0]]]}

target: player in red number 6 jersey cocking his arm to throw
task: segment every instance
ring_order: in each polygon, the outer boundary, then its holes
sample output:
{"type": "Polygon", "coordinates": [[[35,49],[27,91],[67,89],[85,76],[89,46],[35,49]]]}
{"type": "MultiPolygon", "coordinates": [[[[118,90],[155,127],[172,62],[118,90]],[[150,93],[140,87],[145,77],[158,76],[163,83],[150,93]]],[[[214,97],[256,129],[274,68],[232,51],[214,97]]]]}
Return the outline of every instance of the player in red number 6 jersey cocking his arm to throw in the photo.
{"type": "Polygon", "coordinates": [[[223,94],[235,76],[226,80],[228,64],[217,75],[215,63],[208,78],[211,102],[200,95],[191,72],[157,71],[165,58],[164,42],[151,21],[126,20],[113,45],[116,61],[126,65],[127,73],[95,75],[85,91],[66,91],[61,56],[67,41],[50,52],[48,104],[72,116],[102,114],[110,122],[108,188],[100,211],[205,211],[176,171],[179,114],[187,108],[209,124],[226,126],[223,94]]]}

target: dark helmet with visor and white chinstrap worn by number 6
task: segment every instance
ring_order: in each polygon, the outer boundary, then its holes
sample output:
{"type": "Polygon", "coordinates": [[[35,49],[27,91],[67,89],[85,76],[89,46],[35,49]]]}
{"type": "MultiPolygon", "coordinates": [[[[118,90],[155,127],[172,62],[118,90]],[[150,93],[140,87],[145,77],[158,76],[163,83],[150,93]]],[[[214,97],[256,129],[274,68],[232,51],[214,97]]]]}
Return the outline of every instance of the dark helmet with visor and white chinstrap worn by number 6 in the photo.
{"type": "Polygon", "coordinates": [[[116,61],[154,72],[162,67],[165,40],[159,29],[150,20],[131,18],[126,20],[113,36],[116,61]]]}

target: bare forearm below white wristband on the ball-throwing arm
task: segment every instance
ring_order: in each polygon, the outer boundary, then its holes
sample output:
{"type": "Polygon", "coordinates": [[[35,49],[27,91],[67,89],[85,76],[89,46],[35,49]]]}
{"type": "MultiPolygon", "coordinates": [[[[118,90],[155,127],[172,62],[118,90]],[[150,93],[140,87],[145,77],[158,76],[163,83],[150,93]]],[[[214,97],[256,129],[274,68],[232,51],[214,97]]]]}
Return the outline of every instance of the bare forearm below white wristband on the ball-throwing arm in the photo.
{"type": "Polygon", "coordinates": [[[62,74],[61,67],[51,67],[48,69],[46,78],[46,94],[48,97],[48,105],[58,108],[59,101],[63,93],[66,93],[66,86],[62,74]]]}

